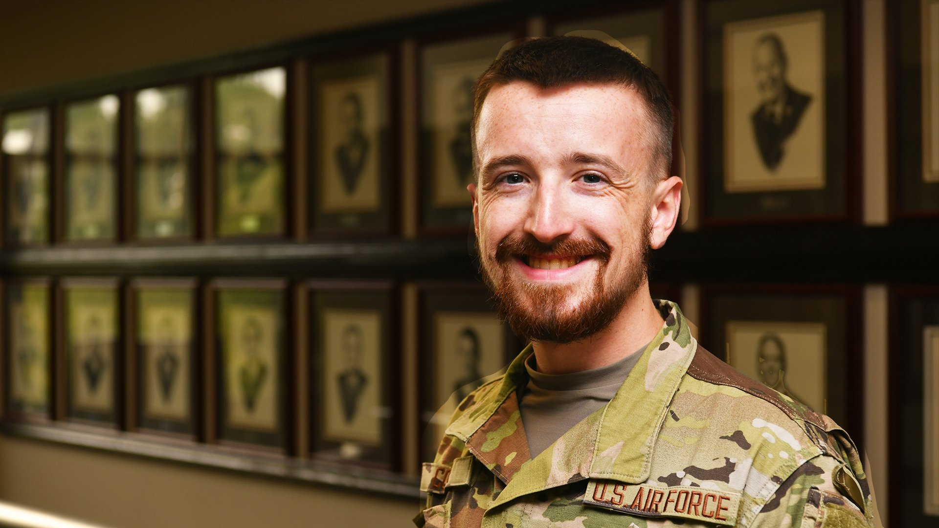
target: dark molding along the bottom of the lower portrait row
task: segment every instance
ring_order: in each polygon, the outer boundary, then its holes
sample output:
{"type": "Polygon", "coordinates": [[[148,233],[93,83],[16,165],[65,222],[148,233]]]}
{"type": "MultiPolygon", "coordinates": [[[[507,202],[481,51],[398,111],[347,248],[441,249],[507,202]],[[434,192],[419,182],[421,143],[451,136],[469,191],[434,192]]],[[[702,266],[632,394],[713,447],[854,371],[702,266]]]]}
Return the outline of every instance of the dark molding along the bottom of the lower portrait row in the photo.
{"type": "Polygon", "coordinates": [[[262,475],[414,499],[415,505],[421,496],[416,478],[377,470],[369,471],[364,468],[350,467],[347,464],[327,464],[298,458],[228,453],[218,446],[205,444],[157,443],[134,438],[136,436],[134,433],[100,434],[65,427],[11,423],[0,425],[0,431],[21,438],[100,449],[162,461],[169,460],[239,474],[262,475]]]}

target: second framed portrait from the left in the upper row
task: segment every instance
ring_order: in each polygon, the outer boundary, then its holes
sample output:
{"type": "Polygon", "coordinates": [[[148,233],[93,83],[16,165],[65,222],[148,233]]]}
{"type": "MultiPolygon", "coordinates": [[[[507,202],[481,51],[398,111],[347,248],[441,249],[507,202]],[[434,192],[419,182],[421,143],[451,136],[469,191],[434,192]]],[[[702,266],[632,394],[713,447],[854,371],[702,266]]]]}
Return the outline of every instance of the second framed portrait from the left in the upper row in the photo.
{"type": "Polygon", "coordinates": [[[117,127],[115,94],[65,107],[65,240],[117,237],[117,127]]]}

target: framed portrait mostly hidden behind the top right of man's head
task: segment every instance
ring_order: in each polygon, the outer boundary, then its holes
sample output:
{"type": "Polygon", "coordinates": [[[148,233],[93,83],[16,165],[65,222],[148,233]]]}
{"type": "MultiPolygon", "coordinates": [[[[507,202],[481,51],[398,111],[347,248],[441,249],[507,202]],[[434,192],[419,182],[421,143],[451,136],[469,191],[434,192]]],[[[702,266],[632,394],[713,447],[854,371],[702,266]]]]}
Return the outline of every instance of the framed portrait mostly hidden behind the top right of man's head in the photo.
{"type": "Polygon", "coordinates": [[[551,35],[575,35],[603,39],[625,47],[674,89],[674,50],[668,38],[672,23],[666,2],[644,3],[639,8],[622,6],[585,13],[582,8],[548,21],[551,35]],[[585,16],[586,15],[586,16],[585,16]]]}

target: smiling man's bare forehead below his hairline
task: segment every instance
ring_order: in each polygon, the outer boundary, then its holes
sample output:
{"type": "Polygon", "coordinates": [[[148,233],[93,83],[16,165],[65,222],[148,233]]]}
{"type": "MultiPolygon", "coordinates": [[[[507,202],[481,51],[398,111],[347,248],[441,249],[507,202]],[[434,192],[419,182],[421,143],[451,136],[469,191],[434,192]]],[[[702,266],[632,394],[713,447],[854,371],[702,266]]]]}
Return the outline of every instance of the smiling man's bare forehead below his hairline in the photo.
{"type": "Polygon", "coordinates": [[[537,154],[605,148],[622,154],[643,148],[639,138],[648,122],[644,101],[623,85],[541,88],[516,81],[486,95],[476,131],[478,154],[482,160],[516,149],[537,154]]]}

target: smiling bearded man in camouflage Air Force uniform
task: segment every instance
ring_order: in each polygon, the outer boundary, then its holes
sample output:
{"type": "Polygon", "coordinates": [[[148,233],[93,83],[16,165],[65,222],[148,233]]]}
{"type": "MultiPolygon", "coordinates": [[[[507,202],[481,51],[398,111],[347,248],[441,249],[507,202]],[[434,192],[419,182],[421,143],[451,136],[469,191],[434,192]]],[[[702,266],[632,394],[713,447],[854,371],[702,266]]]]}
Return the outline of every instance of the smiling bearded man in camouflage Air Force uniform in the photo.
{"type": "Polygon", "coordinates": [[[654,73],[598,40],[533,39],[474,101],[481,268],[531,345],[454,412],[416,523],[869,526],[847,434],[701,349],[678,306],[650,298],[646,262],[682,186],[654,73]]]}

